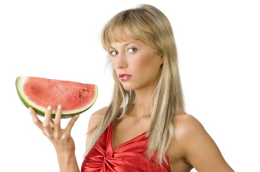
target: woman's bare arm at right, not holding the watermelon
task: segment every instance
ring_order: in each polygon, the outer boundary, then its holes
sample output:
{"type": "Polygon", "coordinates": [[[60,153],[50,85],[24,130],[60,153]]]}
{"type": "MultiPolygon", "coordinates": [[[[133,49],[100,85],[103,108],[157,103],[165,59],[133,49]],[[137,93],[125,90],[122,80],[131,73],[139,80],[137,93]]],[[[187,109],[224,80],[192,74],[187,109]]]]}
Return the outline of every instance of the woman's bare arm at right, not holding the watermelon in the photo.
{"type": "Polygon", "coordinates": [[[176,139],[186,161],[198,172],[234,172],[224,160],[217,144],[192,115],[177,119],[176,139]]]}

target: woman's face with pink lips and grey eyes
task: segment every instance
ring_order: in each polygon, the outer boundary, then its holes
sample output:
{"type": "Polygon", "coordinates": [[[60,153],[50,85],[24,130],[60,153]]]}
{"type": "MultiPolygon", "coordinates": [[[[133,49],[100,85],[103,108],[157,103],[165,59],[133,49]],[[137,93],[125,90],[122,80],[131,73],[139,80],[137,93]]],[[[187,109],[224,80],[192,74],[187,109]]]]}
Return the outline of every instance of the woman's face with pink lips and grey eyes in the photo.
{"type": "Polygon", "coordinates": [[[123,42],[111,42],[111,62],[125,90],[153,89],[161,55],[154,53],[141,40],[122,35],[123,42]],[[127,76],[125,76],[126,74],[127,76]]]}

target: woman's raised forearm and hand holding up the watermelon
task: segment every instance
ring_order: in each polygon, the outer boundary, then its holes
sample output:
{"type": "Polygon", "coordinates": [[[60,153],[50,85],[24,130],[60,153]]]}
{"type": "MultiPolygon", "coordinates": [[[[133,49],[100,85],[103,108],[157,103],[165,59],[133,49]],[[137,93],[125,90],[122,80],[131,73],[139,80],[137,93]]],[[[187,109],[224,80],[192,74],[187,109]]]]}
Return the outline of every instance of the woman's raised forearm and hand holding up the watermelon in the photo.
{"type": "Polygon", "coordinates": [[[72,117],[65,129],[61,129],[60,121],[62,109],[57,109],[54,121],[51,119],[52,109],[47,110],[43,122],[38,119],[33,108],[29,108],[29,110],[34,123],[54,145],[58,157],[60,172],[79,172],[74,153],[75,144],[71,137],[71,130],[78,115],[72,117]]]}

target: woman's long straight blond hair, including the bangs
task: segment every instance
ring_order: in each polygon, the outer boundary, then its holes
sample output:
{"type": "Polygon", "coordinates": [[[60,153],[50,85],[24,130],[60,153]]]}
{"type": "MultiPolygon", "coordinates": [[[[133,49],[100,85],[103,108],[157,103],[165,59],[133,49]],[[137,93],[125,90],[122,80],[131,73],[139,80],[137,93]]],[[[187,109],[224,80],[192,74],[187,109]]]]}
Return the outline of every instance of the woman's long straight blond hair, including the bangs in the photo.
{"type": "MultiPolygon", "coordinates": [[[[105,25],[101,34],[102,45],[108,52],[109,64],[111,64],[109,46],[112,41],[123,40],[120,36],[122,29],[130,38],[142,40],[154,52],[163,56],[163,64],[158,72],[150,101],[151,123],[147,131],[146,155],[147,159],[151,160],[153,154],[156,153],[157,165],[161,166],[163,162],[168,164],[165,155],[174,138],[175,115],[178,108],[185,111],[177,49],[171,24],[160,10],[148,4],[140,4],[136,8],[117,13],[105,25]]],[[[112,67],[111,70],[114,79],[111,102],[86,145],[83,156],[88,153],[113,120],[121,119],[134,107],[135,91],[126,91],[112,67]]]]}

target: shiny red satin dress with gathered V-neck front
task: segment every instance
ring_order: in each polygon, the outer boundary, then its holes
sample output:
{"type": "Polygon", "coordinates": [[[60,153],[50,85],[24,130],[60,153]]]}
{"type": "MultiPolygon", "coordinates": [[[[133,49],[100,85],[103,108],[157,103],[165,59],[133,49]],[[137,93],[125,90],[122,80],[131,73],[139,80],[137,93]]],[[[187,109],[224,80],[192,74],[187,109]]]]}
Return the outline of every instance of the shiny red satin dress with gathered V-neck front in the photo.
{"type": "MultiPolygon", "coordinates": [[[[82,162],[81,172],[171,172],[170,165],[156,165],[155,156],[150,162],[145,158],[148,145],[146,132],[113,150],[112,127],[111,122],[89,150],[82,162]]],[[[166,159],[170,164],[168,156],[166,159]]]]}

